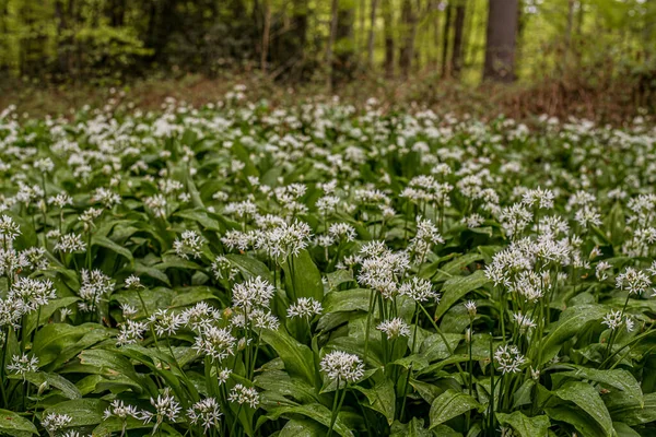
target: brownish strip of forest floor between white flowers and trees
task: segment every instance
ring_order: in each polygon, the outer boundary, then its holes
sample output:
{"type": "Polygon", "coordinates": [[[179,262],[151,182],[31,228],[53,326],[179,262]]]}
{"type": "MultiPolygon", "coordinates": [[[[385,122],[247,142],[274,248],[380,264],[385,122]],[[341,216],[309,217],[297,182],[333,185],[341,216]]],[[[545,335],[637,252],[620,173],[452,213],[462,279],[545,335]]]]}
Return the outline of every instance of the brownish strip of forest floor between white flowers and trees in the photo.
{"type": "Polygon", "coordinates": [[[120,86],[101,86],[87,81],[57,85],[5,80],[0,82],[0,109],[15,105],[17,113],[26,118],[67,116],[85,105],[95,108],[108,103],[119,109],[157,110],[167,98],[201,106],[224,99],[236,84],[246,86],[249,99],[266,98],[274,106],[336,96],[344,102],[362,104],[374,97],[385,109],[419,105],[440,114],[471,115],[482,119],[506,115],[530,121],[532,117],[546,114],[612,125],[655,113],[654,104],[649,104],[651,96],[626,92],[629,86],[617,83],[588,86],[577,79],[473,86],[456,80],[443,80],[435,74],[421,74],[408,80],[361,76],[338,84],[331,93],[327,93],[326,87],[317,83],[290,85],[254,73],[230,73],[214,79],[199,74],[175,79],[153,75],[120,86]]]}

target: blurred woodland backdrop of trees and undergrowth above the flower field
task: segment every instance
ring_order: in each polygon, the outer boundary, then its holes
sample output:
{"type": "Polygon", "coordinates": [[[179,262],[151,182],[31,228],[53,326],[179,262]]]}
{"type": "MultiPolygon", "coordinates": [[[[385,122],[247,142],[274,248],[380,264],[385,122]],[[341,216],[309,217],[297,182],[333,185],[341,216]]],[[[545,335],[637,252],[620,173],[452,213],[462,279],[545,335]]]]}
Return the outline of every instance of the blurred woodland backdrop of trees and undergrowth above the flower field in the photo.
{"type": "Polygon", "coordinates": [[[0,103],[189,84],[208,97],[230,79],[653,111],[655,27],[656,0],[0,0],[0,103]]]}

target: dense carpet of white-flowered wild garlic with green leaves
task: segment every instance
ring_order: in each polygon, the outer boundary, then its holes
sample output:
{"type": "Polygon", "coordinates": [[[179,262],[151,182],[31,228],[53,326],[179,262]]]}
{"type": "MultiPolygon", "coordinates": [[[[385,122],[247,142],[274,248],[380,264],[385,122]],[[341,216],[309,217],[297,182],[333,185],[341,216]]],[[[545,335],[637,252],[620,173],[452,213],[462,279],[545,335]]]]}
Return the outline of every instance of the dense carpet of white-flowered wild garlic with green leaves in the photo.
{"type": "Polygon", "coordinates": [[[0,434],[653,436],[656,130],[0,114],[0,434]]]}

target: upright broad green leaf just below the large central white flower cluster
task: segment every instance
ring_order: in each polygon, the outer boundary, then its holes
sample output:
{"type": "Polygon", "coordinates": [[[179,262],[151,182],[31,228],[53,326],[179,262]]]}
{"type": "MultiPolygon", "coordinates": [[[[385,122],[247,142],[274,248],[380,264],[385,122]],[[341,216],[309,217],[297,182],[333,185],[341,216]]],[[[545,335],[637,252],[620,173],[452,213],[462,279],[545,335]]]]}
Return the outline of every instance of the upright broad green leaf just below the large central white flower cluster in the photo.
{"type": "Polygon", "coordinates": [[[301,251],[297,257],[292,256],[291,260],[288,260],[282,268],[285,273],[284,282],[290,300],[296,300],[298,297],[324,300],[321,273],[307,250],[301,251]]]}

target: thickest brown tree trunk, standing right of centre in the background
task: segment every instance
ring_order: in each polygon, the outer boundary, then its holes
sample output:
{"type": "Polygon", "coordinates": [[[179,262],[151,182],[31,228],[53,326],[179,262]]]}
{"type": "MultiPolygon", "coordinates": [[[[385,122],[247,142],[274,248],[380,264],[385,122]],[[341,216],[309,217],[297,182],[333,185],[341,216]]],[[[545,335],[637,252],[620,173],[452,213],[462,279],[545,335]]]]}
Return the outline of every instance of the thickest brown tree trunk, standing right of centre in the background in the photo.
{"type": "Polygon", "coordinates": [[[490,0],[483,80],[515,80],[517,0],[490,0]]]}

